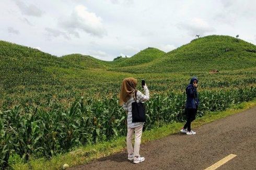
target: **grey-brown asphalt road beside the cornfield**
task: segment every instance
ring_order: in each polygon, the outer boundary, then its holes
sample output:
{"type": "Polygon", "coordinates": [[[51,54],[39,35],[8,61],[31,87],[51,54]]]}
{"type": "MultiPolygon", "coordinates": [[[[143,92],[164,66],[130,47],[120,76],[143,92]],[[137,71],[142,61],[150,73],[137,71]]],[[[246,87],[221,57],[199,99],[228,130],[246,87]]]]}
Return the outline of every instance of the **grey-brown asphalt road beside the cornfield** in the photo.
{"type": "MultiPolygon", "coordinates": [[[[141,145],[145,161],[127,160],[125,151],[70,169],[205,169],[235,154],[218,169],[256,169],[256,107],[192,130],[141,145]]],[[[142,135],[143,138],[143,135],[142,135]]]]}

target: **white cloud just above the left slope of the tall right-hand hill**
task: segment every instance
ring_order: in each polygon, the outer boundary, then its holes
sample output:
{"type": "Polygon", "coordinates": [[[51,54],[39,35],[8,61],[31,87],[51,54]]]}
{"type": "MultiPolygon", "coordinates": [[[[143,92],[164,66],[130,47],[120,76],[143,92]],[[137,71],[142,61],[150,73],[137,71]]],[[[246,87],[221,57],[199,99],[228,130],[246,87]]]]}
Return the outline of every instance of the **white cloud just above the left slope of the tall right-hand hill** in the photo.
{"type": "Polygon", "coordinates": [[[206,32],[213,32],[215,28],[208,25],[206,21],[201,18],[193,18],[188,22],[182,22],[178,24],[178,28],[187,30],[191,35],[200,34],[203,35],[206,32]]]}

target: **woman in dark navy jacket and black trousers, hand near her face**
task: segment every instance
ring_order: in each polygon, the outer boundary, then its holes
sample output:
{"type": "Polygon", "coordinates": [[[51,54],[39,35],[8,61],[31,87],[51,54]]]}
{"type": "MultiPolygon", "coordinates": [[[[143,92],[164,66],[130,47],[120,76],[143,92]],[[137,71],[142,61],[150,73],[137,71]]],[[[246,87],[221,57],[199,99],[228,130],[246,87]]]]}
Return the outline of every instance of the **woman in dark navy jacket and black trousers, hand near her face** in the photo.
{"type": "Polygon", "coordinates": [[[199,98],[197,95],[197,83],[196,77],[193,77],[186,88],[187,101],[185,107],[185,114],[187,116],[187,123],[180,130],[182,133],[187,135],[195,135],[195,132],[191,130],[191,122],[195,119],[197,108],[199,106],[199,98]]]}

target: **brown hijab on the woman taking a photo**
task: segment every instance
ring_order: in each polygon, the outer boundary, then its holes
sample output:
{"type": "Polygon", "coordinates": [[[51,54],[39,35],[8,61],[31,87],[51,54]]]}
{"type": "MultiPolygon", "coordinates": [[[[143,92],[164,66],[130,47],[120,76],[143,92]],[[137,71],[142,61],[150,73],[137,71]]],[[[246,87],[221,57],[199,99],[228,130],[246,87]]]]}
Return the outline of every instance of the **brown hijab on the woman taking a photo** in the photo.
{"type": "Polygon", "coordinates": [[[132,96],[133,92],[136,90],[137,82],[137,79],[132,77],[123,80],[119,100],[120,105],[123,105],[123,103],[132,96]]]}

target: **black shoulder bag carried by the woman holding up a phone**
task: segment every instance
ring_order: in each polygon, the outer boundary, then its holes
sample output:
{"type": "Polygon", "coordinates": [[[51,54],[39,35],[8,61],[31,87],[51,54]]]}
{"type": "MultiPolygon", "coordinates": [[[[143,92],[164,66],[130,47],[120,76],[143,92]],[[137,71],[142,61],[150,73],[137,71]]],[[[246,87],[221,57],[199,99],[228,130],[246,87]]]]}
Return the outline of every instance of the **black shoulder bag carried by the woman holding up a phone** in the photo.
{"type": "Polygon", "coordinates": [[[146,122],[146,110],[144,104],[137,103],[137,91],[135,90],[135,102],[132,103],[132,123],[146,122]]]}

